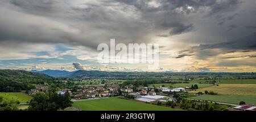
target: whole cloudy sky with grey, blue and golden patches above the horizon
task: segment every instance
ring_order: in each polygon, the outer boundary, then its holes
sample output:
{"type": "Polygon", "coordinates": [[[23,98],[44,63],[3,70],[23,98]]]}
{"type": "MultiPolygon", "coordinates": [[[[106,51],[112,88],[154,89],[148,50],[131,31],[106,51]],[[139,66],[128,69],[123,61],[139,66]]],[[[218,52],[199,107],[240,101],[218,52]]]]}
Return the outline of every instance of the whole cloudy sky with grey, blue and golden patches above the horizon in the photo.
{"type": "Polygon", "coordinates": [[[255,0],[2,0],[0,69],[152,71],[101,64],[97,46],[158,43],[159,68],[256,72],[255,0]]]}

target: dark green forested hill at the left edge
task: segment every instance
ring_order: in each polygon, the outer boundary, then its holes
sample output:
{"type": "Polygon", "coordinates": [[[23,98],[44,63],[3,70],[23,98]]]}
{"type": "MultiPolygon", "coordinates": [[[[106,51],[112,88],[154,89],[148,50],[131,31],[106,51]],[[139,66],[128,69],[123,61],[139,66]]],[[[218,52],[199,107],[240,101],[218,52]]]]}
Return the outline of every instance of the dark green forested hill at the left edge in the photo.
{"type": "Polygon", "coordinates": [[[53,80],[53,77],[40,73],[0,69],[0,91],[28,90],[35,87],[32,84],[43,84],[53,80]]]}

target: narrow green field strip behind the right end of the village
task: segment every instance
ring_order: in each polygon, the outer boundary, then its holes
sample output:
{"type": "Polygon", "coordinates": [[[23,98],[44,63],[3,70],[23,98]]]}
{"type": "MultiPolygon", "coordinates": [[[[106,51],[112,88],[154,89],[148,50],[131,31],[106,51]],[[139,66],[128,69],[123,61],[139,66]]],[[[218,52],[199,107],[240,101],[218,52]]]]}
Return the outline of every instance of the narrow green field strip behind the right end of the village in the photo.
{"type": "Polygon", "coordinates": [[[154,85],[156,87],[159,87],[159,86],[164,85],[164,87],[167,87],[167,88],[170,88],[170,86],[171,86],[171,88],[172,87],[173,88],[178,88],[178,87],[184,88],[185,86],[191,86],[191,85],[195,85],[195,84],[197,84],[199,88],[205,88],[205,87],[213,86],[213,84],[199,84],[197,82],[190,82],[190,83],[186,83],[186,84],[183,84],[183,83],[181,83],[181,84],[170,84],[170,83],[166,83],[166,84],[150,84],[150,86],[154,85]]]}

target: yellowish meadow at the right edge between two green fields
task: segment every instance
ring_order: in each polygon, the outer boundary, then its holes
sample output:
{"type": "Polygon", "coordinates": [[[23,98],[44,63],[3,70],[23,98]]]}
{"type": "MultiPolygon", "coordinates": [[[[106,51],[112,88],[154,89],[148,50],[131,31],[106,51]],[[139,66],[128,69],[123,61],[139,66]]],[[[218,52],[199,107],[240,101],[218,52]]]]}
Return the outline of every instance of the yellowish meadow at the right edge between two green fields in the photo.
{"type": "Polygon", "coordinates": [[[218,86],[210,86],[189,92],[198,93],[201,91],[204,93],[205,90],[214,91],[218,94],[249,95],[256,97],[256,84],[219,84],[218,86]]]}

